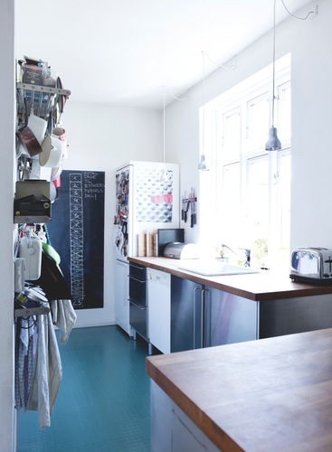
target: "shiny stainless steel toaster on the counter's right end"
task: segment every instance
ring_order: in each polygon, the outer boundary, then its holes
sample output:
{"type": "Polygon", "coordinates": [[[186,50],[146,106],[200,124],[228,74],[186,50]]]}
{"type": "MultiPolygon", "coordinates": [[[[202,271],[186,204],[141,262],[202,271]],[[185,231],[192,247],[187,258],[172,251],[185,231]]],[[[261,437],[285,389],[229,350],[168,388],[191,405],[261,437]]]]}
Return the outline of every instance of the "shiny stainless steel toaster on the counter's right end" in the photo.
{"type": "Polygon", "coordinates": [[[291,253],[290,278],[318,285],[332,285],[332,250],[299,248],[291,253]]]}

